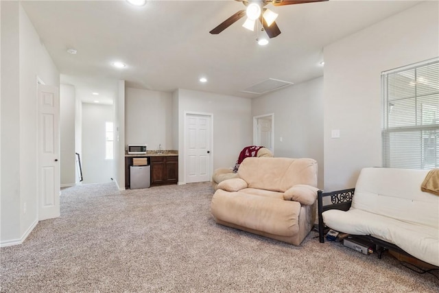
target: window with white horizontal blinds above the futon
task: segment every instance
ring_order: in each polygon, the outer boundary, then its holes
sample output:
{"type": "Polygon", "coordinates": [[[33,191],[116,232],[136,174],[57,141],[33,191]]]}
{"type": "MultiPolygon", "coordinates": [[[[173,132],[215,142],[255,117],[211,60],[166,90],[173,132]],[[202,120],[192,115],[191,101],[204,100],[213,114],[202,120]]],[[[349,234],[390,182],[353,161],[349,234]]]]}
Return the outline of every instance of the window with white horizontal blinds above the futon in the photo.
{"type": "Polygon", "coordinates": [[[383,166],[439,167],[439,58],[382,74],[383,166]]]}

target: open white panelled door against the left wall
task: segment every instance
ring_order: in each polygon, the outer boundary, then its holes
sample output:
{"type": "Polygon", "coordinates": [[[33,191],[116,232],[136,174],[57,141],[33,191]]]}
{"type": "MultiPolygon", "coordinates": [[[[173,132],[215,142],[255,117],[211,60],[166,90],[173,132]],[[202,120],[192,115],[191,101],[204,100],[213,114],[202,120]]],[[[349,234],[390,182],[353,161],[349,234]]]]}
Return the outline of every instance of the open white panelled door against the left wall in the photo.
{"type": "Polygon", "coordinates": [[[38,84],[38,220],[60,215],[59,113],[58,88],[38,84]]]}

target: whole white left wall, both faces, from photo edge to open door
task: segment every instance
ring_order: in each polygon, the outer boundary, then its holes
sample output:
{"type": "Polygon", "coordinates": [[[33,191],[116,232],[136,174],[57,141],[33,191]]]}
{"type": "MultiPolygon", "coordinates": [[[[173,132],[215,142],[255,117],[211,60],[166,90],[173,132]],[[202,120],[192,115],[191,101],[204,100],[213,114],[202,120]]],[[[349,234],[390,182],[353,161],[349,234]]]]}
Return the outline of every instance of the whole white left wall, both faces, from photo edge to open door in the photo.
{"type": "Polygon", "coordinates": [[[36,80],[54,86],[60,81],[21,4],[1,1],[0,5],[3,246],[21,243],[38,222],[36,80]]]}

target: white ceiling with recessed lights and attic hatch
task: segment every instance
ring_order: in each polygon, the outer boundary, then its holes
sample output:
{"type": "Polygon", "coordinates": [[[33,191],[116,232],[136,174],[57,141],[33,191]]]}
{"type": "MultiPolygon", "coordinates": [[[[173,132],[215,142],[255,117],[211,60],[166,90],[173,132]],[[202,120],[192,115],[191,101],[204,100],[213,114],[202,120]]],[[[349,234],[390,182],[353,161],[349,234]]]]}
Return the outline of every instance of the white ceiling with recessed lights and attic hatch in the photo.
{"type": "Polygon", "coordinates": [[[209,34],[244,9],[239,1],[147,1],[141,8],[123,0],[22,3],[61,82],[75,85],[85,102],[110,103],[117,80],[152,91],[182,88],[239,97],[257,97],[241,91],[268,78],[311,80],[323,75],[323,47],[419,1],[270,4],[282,33],[264,47],[256,43],[257,32],[241,27],[245,17],[209,34]],[[69,48],[78,54],[68,54],[69,48]],[[115,60],[126,68],[112,67],[115,60]],[[202,76],[208,82],[200,83],[202,76]]]}

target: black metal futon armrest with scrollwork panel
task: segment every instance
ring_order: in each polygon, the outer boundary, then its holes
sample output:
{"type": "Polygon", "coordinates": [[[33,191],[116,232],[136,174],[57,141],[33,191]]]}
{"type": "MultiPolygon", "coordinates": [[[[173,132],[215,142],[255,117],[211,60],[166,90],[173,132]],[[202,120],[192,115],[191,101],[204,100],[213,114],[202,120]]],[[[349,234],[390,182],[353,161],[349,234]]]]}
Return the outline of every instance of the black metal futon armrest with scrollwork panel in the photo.
{"type": "Polygon", "coordinates": [[[331,192],[323,192],[319,190],[317,192],[318,201],[318,237],[320,243],[324,243],[324,222],[322,213],[329,209],[340,209],[342,211],[348,211],[351,208],[352,199],[354,196],[355,188],[342,189],[331,192]],[[331,204],[323,205],[323,199],[331,196],[331,204]]]}

